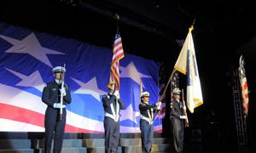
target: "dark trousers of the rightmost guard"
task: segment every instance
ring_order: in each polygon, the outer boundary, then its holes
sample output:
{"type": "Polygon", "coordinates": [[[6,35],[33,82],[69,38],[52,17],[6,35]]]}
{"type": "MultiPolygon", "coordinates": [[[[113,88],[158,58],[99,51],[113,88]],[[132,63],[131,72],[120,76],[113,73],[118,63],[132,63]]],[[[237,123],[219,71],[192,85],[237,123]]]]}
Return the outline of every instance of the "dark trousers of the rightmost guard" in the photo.
{"type": "Polygon", "coordinates": [[[177,152],[183,151],[184,125],[183,120],[172,118],[172,137],[174,149],[177,152]]]}

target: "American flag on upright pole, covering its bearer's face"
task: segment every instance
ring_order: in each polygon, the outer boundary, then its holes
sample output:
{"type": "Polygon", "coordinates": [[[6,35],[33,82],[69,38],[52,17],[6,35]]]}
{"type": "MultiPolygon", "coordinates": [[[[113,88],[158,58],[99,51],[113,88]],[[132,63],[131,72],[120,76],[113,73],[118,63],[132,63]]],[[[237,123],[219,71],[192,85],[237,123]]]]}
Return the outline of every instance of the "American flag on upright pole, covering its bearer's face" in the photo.
{"type": "MultiPolygon", "coordinates": [[[[113,57],[112,57],[112,63],[111,63],[111,71],[110,71],[110,82],[116,82],[116,86],[114,87],[115,90],[119,90],[119,60],[123,59],[125,57],[123,45],[122,45],[122,39],[117,32],[115,35],[115,40],[113,43],[113,57]]],[[[114,85],[114,84],[113,84],[114,85]]]]}

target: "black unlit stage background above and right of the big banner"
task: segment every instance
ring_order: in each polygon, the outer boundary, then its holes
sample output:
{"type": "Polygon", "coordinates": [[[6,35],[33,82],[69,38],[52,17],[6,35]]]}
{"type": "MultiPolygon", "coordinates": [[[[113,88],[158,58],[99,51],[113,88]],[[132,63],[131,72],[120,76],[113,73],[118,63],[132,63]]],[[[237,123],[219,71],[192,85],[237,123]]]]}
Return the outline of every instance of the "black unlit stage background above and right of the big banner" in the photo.
{"type": "MultiPolygon", "coordinates": [[[[253,148],[256,142],[255,7],[253,1],[228,0],[6,0],[0,2],[0,21],[112,48],[116,32],[113,15],[118,13],[125,54],[164,63],[168,78],[181,50],[178,42],[185,39],[195,20],[192,34],[204,104],[189,114],[191,127],[186,129],[185,140],[189,143],[191,130],[200,128],[203,147],[212,144],[218,150],[235,152],[232,71],[238,68],[241,54],[250,92],[249,146],[253,148]],[[211,129],[210,120],[217,122],[211,129]]],[[[169,134],[169,127],[167,115],[164,133],[169,134]]]]}

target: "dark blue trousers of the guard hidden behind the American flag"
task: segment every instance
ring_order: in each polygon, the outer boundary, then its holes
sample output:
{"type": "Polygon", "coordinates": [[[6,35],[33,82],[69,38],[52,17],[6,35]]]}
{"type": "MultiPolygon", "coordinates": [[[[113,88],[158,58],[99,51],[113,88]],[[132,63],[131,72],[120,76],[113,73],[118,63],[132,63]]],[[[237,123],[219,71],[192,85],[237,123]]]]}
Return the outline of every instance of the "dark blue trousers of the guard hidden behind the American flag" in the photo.
{"type": "Polygon", "coordinates": [[[104,117],[105,129],[105,152],[116,153],[119,145],[119,122],[114,122],[112,118],[104,117]]]}

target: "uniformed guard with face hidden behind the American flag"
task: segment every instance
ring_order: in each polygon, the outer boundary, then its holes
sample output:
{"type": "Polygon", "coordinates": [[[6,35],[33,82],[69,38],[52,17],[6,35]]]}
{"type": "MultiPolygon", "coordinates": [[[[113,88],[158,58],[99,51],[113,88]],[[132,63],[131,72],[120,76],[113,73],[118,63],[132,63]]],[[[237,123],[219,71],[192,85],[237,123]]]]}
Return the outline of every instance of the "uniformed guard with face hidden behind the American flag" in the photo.
{"type": "Polygon", "coordinates": [[[125,105],[120,99],[119,91],[114,91],[114,84],[109,82],[108,94],[102,97],[102,103],[105,111],[104,129],[105,129],[105,152],[117,152],[119,145],[119,111],[125,109],[125,105]]]}

